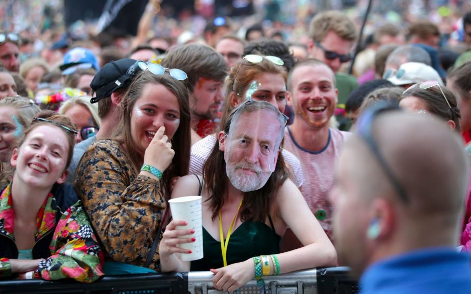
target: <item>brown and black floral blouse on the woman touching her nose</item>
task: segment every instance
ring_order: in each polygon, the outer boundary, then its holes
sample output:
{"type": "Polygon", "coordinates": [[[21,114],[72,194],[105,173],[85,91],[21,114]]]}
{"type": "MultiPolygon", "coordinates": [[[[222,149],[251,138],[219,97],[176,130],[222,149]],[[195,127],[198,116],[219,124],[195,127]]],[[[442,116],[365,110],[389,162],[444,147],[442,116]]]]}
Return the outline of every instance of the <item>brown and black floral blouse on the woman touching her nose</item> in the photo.
{"type": "MultiPolygon", "coordinates": [[[[160,182],[136,174],[120,144],[103,139],[83,154],[74,186],[108,256],[144,266],[166,208],[160,182]]],[[[158,252],[150,268],[160,270],[158,252]]]]}

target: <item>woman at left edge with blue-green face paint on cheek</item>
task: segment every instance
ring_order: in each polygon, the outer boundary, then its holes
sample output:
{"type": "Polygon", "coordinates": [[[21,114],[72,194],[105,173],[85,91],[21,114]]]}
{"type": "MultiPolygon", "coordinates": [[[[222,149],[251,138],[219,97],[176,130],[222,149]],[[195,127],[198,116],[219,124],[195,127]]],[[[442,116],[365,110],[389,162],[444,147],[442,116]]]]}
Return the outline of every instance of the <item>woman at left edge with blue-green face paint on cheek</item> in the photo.
{"type": "Polygon", "coordinates": [[[11,96],[0,100],[0,189],[9,181],[11,152],[29,127],[39,107],[31,99],[11,96]]]}

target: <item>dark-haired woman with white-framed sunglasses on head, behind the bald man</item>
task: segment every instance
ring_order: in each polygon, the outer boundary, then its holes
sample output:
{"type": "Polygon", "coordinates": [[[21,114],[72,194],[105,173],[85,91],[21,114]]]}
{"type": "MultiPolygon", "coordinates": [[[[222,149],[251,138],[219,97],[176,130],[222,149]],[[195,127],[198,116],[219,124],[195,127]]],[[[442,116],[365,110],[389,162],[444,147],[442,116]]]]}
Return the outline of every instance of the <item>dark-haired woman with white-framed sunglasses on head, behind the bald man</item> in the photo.
{"type": "Polygon", "coordinates": [[[438,81],[427,81],[410,86],[399,98],[399,106],[425,115],[436,115],[449,127],[460,131],[460,109],[454,94],[438,81]]]}

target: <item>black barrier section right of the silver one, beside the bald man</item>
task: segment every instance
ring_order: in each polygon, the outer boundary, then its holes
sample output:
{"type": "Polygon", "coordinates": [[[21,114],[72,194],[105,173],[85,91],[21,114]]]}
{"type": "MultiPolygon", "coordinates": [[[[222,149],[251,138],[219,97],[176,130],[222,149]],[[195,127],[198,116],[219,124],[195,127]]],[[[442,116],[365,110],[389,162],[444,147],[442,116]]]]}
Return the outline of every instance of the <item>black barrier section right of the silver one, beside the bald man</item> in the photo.
{"type": "Polygon", "coordinates": [[[318,268],[317,294],[356,294],[358,283],[349,275],[349,268],[318,268]]]}

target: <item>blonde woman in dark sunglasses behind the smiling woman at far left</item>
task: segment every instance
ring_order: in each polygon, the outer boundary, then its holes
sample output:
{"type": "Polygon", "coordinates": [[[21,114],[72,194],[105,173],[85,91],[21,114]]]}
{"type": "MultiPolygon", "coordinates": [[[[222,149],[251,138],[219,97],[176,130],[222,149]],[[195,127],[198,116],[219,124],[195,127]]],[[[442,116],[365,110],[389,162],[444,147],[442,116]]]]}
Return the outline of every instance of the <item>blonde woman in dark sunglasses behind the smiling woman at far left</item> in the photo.
{"type": "Polygon", "coordinates": [[[98,116],[98,105],[90,103],[90,99],[90,96],[72,97],[59,108],[59,113],[68,117],[79,131],[76,143],[93,136],[102,124],[98,116]]]}

